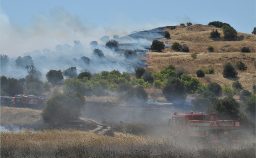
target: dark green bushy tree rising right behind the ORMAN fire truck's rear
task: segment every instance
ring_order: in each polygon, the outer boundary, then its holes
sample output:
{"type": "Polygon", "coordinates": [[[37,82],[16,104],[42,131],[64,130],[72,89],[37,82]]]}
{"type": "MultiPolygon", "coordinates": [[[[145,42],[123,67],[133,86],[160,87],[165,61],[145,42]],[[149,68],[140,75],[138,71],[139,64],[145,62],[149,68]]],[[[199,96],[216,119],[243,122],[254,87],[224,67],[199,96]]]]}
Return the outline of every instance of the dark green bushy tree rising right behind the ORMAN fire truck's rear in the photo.
{"type": "MultiPolygon", "coordinates": [[[[216,114],[217,120],[237,120],[240,104],[232,97],[215,99],[211,106],[206,108],[207,114],[216,114]]],[[[241,123],[242,124],[242,123],[241,123]]]]}

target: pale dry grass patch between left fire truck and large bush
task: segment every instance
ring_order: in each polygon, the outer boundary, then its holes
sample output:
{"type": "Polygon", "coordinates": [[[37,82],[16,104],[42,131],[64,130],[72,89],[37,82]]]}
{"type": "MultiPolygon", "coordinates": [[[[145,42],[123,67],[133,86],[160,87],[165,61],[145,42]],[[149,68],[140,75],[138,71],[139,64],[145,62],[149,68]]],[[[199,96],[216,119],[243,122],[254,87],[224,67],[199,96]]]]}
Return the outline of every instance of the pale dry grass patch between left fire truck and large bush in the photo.
{"type": "Polygon", "coordinates": [[[32,126],[43,123],[40,110],[1,106],[1,126],[32,126]]]}

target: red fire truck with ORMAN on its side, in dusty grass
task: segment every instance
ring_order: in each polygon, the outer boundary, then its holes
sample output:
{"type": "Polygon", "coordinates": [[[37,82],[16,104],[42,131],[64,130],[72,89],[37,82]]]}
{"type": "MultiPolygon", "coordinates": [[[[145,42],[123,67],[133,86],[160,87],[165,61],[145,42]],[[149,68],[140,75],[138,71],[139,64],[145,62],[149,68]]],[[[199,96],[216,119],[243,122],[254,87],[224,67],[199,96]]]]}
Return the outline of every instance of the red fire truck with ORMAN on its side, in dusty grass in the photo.
{"type": "Polygon", "coordinates": [[[174,112],[169,120],[171,136],[174,138],[196,139],[198,142],[209,142],[214,145],[219,143],[238,143],[238,134],[232,131],[240,128],[240,121],[216,120],[216,114],[182,113],[174,112]]]}

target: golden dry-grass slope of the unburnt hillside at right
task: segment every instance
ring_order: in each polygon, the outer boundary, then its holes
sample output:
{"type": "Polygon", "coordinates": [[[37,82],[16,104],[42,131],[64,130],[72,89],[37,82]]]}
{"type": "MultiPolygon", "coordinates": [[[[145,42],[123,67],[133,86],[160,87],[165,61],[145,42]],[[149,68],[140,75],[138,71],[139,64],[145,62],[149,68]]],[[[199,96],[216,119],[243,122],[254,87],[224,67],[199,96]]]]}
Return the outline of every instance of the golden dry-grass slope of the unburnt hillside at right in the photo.
{"type": "Polygon", "coordinates": [[[177,26],[175,29],[167,28],[170,33],[170,39],[161,38],[160,41],[166,43],[178,42],[187,44],[190,52],[175,52],[170,47],[165,48],[162,52],[147,52],[152,58],[147,62],[147,70],[159,72],[169,64],[177,68],[184,68],[189,74],[195,74],[196,70],[214,68],[215,74],[208,74],[205,78],[199,78],[204,84],[217,82],[222,87],[224,84],[231,85],[233,81],[238,80],[244,89],[253,91],[252,85],[255,83],[255,35],[238,32],[240,41],[222,41],[223,32],[221,28],[209,25],[195,24],[190,27],[177,26]],[[209,38],[212,29],[217,29],[221,33],[220,38],[209,38]],[[208,46],[214,47],[214,52],[207,50],[208,46]],[[249,47],[251,53],[241,53],[241,47],[249,47]],[[226,47],[226,48],[224,48],[226,47]],[[222,49],[223,48],[223,49],[222,49]],[[221,50],[222,49],[222,50],[221,50]],[[197,58],[190,57],[192,53],[197,53],[197,58]],[[242,61],[248,66],[247,71],[238,70],[237,78],[224,78],[222,76],[222,66],[224,63],[242,61]],[[214,63],[212,63],[214,62],[214,63]]]}

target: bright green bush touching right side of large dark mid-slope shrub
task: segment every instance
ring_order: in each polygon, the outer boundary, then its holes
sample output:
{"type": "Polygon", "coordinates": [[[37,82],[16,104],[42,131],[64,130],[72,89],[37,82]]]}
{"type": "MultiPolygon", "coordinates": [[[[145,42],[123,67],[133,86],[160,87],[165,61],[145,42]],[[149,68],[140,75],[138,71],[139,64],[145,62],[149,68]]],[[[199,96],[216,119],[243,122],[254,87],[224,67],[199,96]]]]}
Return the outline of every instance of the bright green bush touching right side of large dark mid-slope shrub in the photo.
{"type": "Polygon", "coordinates": [[[185,85],[185,91],[191,94],[198,92],[199,87],[202,86],[202,82],[199,79],[186,74],[181,75],[181,81],[185,85]]]}

